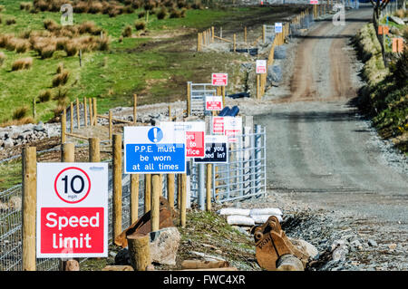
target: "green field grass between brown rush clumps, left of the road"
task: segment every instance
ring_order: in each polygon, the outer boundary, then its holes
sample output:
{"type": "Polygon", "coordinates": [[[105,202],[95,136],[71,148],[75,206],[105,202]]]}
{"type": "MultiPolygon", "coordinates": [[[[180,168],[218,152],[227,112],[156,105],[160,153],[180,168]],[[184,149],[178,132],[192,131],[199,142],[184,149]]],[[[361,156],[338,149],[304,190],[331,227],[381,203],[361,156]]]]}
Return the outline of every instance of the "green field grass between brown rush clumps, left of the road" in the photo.
{"type": "MultiPolygon", "coordinates": [[[[16,24],[13,25],[6,25],[3,21],[3,24],[0,24],[1,34],[19,35],[27,30],[43,30],[45,19],[53,19],[60,23],[59,13],[30,14],[20,10],[19,2],[5,0],[0,0],[0,5],[5,5],[5,10],[1,13],[4,20],[11,16],[16,19],[16,24]]],[[[58,63],[61,62],[70,72],[69,81],[63,86],[68,90],[70,100],[74,101],[77,97],[83,99],[84,96],[96,97],[101,113],[115,106],[130,105],[133,93],[144,94],[141,95],[140,104],[183,99],[184,83],[195,80],[201,82],[202,80],[197,77],[207,75],[204,74],[201,63],[208,63],[209,55],[194,53],[187,49],[184,51],[179,48],[167,49],[171,46],[177,47],[176,43],[168,43],[164,47],[152,47],[150,50],[135,53],[134,50],[137,50],[141,44],[152,41],[149,36],[124,38],[123,42],[119,43],[118,39],[126,25],[131,24],[135,34],[134,22],[138,20],[137,14],[140,11],[141,9],[133,14],[121,14],[112,18],[105,14],[73,14],[74,24],[93,21],[112,38],[110,51],[83,53],[83,67],[79,66],[78,56],[67,57],[60,51],[54,53],[52,58],[42,60],[33,51],[15,53],[0,49],[6,56],[5,63],[0,67],[0,122],[11,120],[16,108],[24,105],[31,107],[33,98],[38,97],[40,92],[51,89],[54,73],[58,63]],[[26,71],[11,72],[12,63],[18,58],[27,56],[34,58],[33,67],[26,71]],[[167,81],[160,82],[160,80],[167,81]],[[173,82],[173,80],[176,81],[173,82]],[[152,85],[147,87],[149,86],[147,82],[151,82],[152,85]]],[[[158,20],[156,15],[150,15],[148,30],[151,34],[177,28],[200,30],[217,21],[222,23],[228,16],[249,15],[254,12],[257,12],[257,9],[189,10],[185,18],[164,20],[158,20]]],[[[215,55],[216,63],[208,66],[221,69],[231,59],[242,59],[242,57],[228,55],[220,58],[215,55]]],[[[210,71],[207,73],[210,75],[210,71]]],[[[52,90],[53,93],[56,91],[57,89],[52,90]]],[[[36,120],[50,120],[56,105],[56,101],[37,103],[36,120]]]]}

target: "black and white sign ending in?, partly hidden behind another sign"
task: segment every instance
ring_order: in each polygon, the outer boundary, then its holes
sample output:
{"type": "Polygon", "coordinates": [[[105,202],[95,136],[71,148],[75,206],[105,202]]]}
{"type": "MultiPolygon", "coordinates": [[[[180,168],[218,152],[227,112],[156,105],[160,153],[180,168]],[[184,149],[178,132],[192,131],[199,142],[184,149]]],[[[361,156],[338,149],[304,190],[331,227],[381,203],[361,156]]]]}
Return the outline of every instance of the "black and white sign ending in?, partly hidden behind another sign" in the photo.
{"type": "Polygon", "coordinates": [[[227,136],[205,136],[206,154],[204,158],[195,158],[197,163],[228,163],[228,137],[227,136]]]}

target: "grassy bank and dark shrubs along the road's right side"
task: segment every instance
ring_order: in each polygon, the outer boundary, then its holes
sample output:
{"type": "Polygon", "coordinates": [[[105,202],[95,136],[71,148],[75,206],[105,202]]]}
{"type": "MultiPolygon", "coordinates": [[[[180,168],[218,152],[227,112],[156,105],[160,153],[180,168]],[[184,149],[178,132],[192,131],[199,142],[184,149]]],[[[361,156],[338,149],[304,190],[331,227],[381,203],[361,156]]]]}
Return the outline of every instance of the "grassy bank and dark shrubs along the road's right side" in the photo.
{"type": "MultiPolygon", "coordinates": [[[[401,27],[405,30],[406,27],[401,27]]],[[[408,46],[394,56],[388,67],[373,24],[367,24],[356,36],[364,61],[363,75],[367,85],[361,91],[360,107],[370,116],[385,139],[408,154],[408,46]]]]}

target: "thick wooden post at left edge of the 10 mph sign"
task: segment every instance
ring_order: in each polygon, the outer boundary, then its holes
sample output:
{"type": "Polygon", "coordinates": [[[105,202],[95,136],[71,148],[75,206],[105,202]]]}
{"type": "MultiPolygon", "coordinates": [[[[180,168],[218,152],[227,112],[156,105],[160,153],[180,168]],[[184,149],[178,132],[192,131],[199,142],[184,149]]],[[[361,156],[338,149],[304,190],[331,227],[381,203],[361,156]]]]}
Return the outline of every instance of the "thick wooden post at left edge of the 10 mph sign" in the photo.
{"type": "Polygon", "coordinates": [[[22,251],[23,270],[35,271],[35,210],[37,202],[37,149],[25,147],[23,149],[23,224],[22,224],[22,251]]]}

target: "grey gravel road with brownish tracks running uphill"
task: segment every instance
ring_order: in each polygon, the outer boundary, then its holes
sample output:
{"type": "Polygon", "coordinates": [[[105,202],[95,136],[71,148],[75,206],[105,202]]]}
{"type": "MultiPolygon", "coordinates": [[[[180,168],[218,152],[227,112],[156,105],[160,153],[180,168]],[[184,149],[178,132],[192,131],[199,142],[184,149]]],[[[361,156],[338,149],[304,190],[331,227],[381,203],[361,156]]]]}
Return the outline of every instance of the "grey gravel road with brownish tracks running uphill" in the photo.
{"type": "Polygon", "coordinates": [[[361,63],[350,37],[371,15],[351,10],[344,26],[328,17],[297,39],[291,77],[267,92],[255,120],[267,127],[272,198],[324,208],[332,226],[352,229],[369,244],[353,255],[361,269],[407,270],[408,161],[353,105],[361,63]]]}

